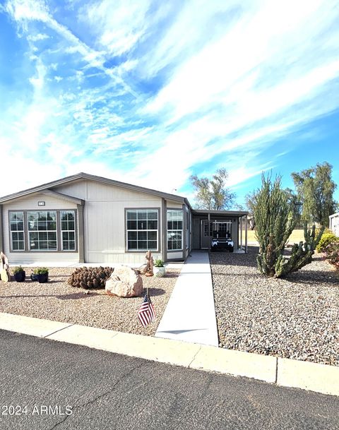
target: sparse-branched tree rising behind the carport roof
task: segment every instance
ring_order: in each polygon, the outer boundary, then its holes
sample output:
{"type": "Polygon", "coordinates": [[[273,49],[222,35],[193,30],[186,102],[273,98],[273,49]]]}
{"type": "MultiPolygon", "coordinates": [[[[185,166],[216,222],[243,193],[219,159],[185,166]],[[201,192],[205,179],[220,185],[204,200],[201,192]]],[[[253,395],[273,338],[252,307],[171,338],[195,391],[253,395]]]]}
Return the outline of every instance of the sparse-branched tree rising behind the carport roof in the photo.
{"type": "Polygon", "coordinates": [[[226,169],[218,169],[212,179],[191,176],[191,184],[195,190],[196,205],[199,209],[222,210],[230,209],[235,194],[227,188],[228,173],[226,169]]]}

